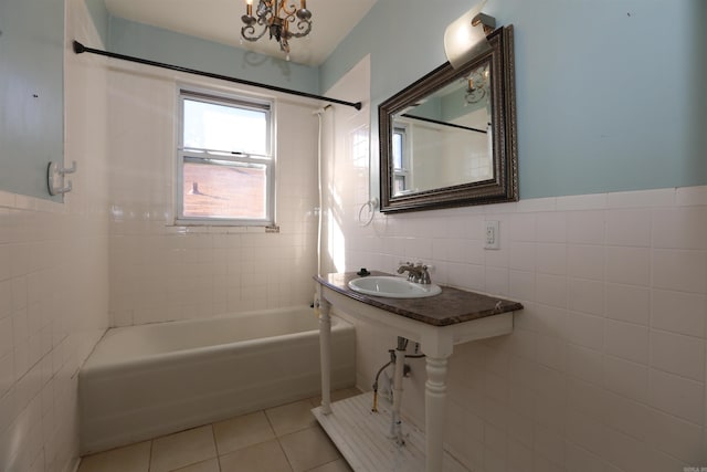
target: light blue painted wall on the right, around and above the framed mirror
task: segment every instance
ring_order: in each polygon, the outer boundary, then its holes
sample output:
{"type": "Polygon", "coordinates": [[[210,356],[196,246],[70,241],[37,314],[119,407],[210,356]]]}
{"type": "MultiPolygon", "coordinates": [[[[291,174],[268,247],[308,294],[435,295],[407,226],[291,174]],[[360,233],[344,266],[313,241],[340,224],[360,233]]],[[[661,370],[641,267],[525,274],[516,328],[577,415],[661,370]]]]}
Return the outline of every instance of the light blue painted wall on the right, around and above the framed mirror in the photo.
{"type": "MultiPolygon", "coordinates": [[[[444,30],[474,3],[379,0],[320,66],[321,88],[370,54],[374,129],[378,104],[446,60],[444,30]]],[[[515,28],[521,198],[707,183],[707,1],[484,11],[515,28]]]]}

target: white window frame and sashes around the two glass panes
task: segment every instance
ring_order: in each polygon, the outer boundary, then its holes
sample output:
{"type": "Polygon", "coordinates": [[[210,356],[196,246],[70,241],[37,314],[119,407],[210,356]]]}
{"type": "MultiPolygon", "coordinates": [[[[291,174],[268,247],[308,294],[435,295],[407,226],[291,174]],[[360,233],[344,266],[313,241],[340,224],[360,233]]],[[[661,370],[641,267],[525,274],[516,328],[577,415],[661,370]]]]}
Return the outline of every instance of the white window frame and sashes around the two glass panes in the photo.
{"type": "Polygon", "coordinates": [[[175,172],[175,224],[177,225],[229,225],[229,227],[274,227],[275,225],[275,101],[247,95],[240,92],[222,92],[210,88],[179,85],[177,87],[177,139],[175,172]],[[220,106],[240,107],[264,112],[266,125],[266,155],[232,151],[228,149],[184,148],[184,102],[197,101],[220,106]],[[224,218],[184,216],[184,176],[186,162],[213,166],[265,166],[265,217],[264,218],[224,218]]]}

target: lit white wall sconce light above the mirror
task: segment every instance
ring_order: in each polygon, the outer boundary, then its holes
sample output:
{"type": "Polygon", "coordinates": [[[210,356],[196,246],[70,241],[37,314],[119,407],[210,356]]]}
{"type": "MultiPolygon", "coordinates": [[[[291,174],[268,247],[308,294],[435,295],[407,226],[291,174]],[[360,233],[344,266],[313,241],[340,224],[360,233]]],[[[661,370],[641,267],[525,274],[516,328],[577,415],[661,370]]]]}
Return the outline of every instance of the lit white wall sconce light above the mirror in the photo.
{"type": "Polygon", "coordinates": [[[486,35],[496,29],[496,20],[481,12],[485,4],[483,0],[446,27],[444,52],[452,67],[457,69],[490,49],[486,35]]]}

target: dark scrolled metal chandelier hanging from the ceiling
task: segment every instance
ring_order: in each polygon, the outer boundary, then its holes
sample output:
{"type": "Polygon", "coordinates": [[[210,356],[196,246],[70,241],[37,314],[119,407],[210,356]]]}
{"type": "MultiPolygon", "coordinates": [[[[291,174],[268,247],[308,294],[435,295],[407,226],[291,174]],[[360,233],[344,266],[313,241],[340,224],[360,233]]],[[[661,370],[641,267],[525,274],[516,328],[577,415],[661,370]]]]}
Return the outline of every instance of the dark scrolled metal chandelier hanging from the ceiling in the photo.
{"type": "Polygon", "coordinates": [[[270,32],[279,43],[279,50],[287,53],[289,61],[289,39],[302,38],[312,31],[312,12],[307,10],[307,0],[299,1],[299,8],[289,0],[257,0],[253,17],[253,0],[245,0],[245,14],[241,17],[243,28],[241,36],[246,41],[257,41],[270,32]],[[296,22],[296,24],[295,24],[296,22]],[[291,30],[292,28],[292,30],[291,30]]]}

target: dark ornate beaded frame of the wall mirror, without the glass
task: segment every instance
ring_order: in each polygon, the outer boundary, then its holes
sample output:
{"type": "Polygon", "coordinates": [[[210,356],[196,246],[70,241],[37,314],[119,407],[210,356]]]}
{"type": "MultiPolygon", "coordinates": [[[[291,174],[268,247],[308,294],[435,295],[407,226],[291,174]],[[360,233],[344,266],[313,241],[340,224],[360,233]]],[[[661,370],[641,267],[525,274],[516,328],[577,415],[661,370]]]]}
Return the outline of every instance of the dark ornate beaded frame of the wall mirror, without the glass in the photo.
{"type": "Polygon", "coordinates": [[[516,91],[513,25],[500,27],[487,36],[490,50],[473,57],[460,69],[446,62],[424,75],[378,107],[380,146],[380,211],[418,211],[437,208],[518,201],[518,146],[516,139],[516,91]],[[431,93],[490,62],[492,128],[494,177],[488,180],[392,195],[393,117],[431,93]]]}

